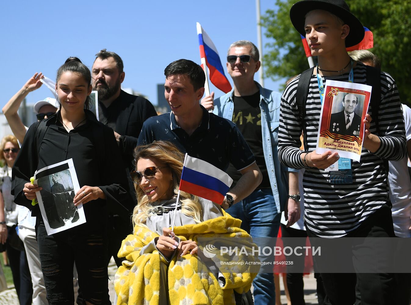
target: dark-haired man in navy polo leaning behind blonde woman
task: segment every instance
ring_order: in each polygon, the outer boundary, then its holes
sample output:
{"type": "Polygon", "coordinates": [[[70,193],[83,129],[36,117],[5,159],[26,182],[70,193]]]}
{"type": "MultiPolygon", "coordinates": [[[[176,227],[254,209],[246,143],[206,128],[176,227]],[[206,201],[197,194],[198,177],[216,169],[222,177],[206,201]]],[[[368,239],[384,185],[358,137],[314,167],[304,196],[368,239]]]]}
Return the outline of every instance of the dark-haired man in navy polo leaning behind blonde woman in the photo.
{"type": "Polygon", "coordinates": [[[201,66],[186,59],[171,62],[164,70],[164,95],[170,113],[148,118],[138,145],[171,141],[183,153],[202,159],[225,171],[229,163],[241,178],[227,193],[222,208],[241,201],[261,183],[261,171],[240,130],[233,122],[209,113],[199,101],[204,94],[201,66]]]}

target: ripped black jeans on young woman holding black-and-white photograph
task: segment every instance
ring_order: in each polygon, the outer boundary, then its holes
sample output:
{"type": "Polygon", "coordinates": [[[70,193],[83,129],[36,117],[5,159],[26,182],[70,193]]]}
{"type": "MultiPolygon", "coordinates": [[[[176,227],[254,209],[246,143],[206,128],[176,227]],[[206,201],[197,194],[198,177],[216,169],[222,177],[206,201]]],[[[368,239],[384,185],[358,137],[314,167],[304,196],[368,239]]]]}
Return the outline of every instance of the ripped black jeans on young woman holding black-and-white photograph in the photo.
{"type": "Polygon", "coordinates": [[[111,305],[107,271],[108,244],[104,228],[90,228],[85,223],[48,236],[44,223],[40,222],[37,243],[50,305],[74,304],[74,262],[83,299],[95,305],[111,305]]]}

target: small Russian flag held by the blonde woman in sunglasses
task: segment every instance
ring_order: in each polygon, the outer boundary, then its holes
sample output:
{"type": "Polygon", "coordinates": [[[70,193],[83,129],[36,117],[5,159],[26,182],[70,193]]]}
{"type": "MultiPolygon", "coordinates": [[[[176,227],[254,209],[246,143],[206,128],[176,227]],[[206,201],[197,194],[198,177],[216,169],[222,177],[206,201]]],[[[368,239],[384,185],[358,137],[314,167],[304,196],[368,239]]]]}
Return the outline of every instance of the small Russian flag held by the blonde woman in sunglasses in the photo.
{"type": "Polygon", "coordinates": [[[233,179],[221,169],[185,154],[179,189],[222,204],[233,179]]]}

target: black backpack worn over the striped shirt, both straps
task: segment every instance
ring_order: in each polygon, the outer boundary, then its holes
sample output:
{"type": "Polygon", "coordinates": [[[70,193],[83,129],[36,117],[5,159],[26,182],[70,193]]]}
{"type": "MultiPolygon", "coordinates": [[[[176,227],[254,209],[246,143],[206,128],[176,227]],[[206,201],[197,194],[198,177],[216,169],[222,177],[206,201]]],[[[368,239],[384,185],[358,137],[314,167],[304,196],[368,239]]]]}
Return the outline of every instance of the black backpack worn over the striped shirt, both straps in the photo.
{"type": "MultiPolygon", "coordinates": [[[[371,66],[366,66],[366,67],[367,67],[367,85],[372,86],[370,105],[371,105],[373,112],[371,113],[371,117],[375,123],[376,134],[378,135],[380,134],[379,128],[378,128],[378,109],[381,103],[380,70],[374,67],[371,67],[371,66]]],[[[297,93],[296,93],[297,107],[298,107],[298,112],[300,113],[300,119],[301,119],[301,124],[302,124],[303,144],[304,144],[305,151],[307,151],[307,147],[308,147],[307,129],[304,124],[304,118],[306,114],[305,104],[307,102],[309,83],[311,81],[311,76],[313,72],[314,72],[314,67],[309,68],[301,73],[300,79],[298,80],[297,93]]],[[[386,172],[388,174],[388,160],[383,159],[383,162],[384,162],[384,168],[386,169],[386,172]]]]}

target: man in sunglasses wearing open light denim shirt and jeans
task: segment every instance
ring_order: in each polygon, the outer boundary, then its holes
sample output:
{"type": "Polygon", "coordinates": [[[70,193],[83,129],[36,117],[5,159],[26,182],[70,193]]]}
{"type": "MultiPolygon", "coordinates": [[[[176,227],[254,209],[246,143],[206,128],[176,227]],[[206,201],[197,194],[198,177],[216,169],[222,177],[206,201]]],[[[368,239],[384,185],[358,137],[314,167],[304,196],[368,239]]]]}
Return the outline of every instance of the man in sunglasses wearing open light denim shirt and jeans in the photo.
{"type": "MultiPolygon", "coordinates": [[[[259,51],[252,42],[234,42],[227,54],[227,70],[234,82],[233,90],[215,100],[212,92],[201,101],[206,109],[236,123],[263,175],[254,192],[227,210],[242,220],[242,229],[253,238],[277,237],[284,209],[289,220],[287,226],[300,218],[298,174],[282,166],[277,154],[281,94],[262,88],[254,81],[254,74],[260,66],[259,51]],[[285,204],[287,189],[294,199],[289,197],[288,204],[285,204]]],[[[234,181],[239,178],[238,171],[231,165],[227,173],[234,181]]],[[[260,273],[253,284],[255,304],[275,303],[272,273],[260,273]]]]}

